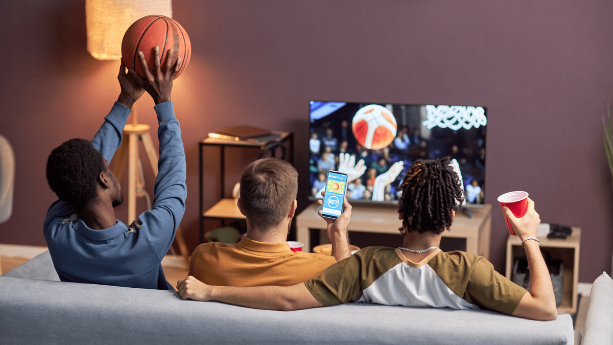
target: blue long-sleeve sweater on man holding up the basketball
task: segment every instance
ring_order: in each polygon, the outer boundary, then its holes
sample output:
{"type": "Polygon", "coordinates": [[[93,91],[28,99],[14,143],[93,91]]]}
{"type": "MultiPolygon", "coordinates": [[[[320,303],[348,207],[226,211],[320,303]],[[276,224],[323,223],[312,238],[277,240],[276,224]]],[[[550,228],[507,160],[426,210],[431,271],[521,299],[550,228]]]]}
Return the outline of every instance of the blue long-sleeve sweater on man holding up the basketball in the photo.
{"type": "MultiPolygon", "coordinates": [[[[174,290],[166,282],[161,261],[185,212],[185,150],[172,102],[154,109],[159,122],[159,172],[151,211],[129,226],[117,220],[110,228],[92,230],[72,205],[61,200],[51,204],[43,231],[61,281],[174,290]]],[[[109,162],[121,144],[129,114],[128,108],[115,103],[91,140],[109,162]]]]}

